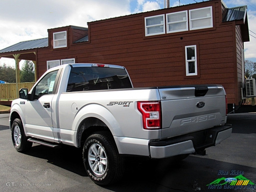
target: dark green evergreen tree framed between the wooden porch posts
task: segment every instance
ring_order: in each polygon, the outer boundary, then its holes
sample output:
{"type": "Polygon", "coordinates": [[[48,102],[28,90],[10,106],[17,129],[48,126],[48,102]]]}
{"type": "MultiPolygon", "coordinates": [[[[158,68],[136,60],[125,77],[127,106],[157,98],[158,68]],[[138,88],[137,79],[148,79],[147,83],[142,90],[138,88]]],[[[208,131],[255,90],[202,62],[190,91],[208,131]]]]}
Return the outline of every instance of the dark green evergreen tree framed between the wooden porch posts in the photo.
{"type": "Polygon", "coordinates": [[[35,70],[34,63],[32,61],[25,60],[20,71],[20,82],[34,82],[35,70]]]}

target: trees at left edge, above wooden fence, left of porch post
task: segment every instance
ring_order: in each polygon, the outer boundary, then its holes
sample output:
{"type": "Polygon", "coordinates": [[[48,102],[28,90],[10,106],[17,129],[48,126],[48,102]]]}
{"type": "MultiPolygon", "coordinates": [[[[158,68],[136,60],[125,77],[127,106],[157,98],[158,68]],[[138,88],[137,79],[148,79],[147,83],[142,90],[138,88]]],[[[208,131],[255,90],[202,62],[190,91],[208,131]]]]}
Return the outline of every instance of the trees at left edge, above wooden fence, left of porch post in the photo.
{"type": "Polygon", "coordinates": [[[16,83],[16,72],[13,67],[6,66],[4,63],[0,66],[0,80],[8,83],[16,83]]]}

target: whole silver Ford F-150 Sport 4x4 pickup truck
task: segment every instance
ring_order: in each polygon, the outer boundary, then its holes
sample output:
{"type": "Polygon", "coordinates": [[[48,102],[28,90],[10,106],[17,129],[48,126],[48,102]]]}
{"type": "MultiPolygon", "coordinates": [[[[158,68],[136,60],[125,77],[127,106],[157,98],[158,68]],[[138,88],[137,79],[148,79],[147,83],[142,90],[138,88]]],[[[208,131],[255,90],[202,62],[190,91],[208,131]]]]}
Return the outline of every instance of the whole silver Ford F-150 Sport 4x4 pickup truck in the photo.
{"type": "Polygon", "coordinates": [[[120,179],[124,156],[150,158],[203,153],[231,135],[220,85],[133,88],[124,67],[67,64],[49,69],[12,102],[15,149],[33,143],[82,148],[89,177],[120,179]]]}

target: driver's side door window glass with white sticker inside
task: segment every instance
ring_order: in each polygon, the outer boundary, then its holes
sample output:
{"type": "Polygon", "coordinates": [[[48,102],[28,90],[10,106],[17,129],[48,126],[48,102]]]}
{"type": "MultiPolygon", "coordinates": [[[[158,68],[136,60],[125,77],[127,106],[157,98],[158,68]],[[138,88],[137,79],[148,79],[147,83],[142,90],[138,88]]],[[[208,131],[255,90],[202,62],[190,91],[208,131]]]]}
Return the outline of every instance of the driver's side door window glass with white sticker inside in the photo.
{"type": "Polygon", "coordinates": [[[46,74],[46,76],[42,78],[41,81],[39,81],[39,83],[35,87],[36,99],[40,98],[42,95],[45,95],[45,94],[52,94],[52,91],[54,90],[54,84],[55,84],[57,73],[58,73],[58,70],[52,71],[46,74]]]}

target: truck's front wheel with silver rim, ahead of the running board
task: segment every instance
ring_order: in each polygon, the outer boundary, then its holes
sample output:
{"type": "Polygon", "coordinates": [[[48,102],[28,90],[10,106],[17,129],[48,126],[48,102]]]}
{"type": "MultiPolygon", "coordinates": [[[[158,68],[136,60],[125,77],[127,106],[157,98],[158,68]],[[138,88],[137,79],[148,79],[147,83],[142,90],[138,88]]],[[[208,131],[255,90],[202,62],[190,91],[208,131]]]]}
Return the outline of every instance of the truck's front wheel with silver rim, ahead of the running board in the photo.
{"type": "Polygon", "coordinates": [[[18,152],[26,152],[32,147],[33,143],[27,141],[22,121],[20,119],[15,119],[13,121],[11,131],[13,146],[18,152]]]}

